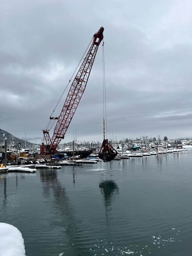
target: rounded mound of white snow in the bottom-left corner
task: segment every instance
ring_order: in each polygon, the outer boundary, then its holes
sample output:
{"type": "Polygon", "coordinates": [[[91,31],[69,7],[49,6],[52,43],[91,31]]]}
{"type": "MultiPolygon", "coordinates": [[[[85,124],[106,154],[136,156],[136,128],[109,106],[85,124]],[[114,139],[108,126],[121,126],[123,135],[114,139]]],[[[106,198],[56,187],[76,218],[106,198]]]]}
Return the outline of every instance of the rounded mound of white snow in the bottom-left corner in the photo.
{"type": "Polygon", "coordinates": [[[25,256],[25,245],[21,232],[7,223],[0,223],[0,255],[25,256]]]}

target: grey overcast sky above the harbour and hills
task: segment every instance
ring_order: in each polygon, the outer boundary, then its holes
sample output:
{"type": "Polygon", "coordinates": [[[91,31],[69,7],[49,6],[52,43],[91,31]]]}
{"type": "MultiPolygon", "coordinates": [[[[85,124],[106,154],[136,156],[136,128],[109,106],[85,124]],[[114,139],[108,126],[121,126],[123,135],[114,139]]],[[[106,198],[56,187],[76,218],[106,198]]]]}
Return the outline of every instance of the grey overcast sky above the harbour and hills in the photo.
{"type": "MultiPolygon", "coordinates": [[[[191,0],[2,0],[1,129],[41,142],[42,129],[101,26],[108,139],[192,137],[191,0]]],[[[61,143],[73,136],[103,140],[102,76],[100,44],[61,143]]]]}

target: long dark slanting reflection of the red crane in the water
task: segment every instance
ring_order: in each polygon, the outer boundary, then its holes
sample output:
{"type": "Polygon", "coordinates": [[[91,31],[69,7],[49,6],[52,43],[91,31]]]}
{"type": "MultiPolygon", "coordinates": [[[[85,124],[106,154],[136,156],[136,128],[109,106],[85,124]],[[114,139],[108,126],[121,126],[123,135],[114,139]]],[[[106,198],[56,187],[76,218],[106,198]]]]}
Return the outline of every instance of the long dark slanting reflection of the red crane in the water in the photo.
{"type": "Polygon", "coordinates": [[[53,215],[54,211],[58,211],[59,214],[56,215],[59,218],[57,217],[54,221],[50,218],[50,227],[54,230],[58,228],[64,234],[63,242],[66,242],[66,246],[64,247],[68,247],[66,253],[70,255],[71,251],[71,255],[92,255],[88,245],[86,245],[86,241],[89,241],[89,239],[82,233],[83,221],[76,217],[75,209],[70,203],[66,189],[57,178],[57,171],[40,170],[40,180],[43,185],[43,194],[45,197],[49,197],[49,200],[51,200],[51,192],[53,192],[53,215]]]}

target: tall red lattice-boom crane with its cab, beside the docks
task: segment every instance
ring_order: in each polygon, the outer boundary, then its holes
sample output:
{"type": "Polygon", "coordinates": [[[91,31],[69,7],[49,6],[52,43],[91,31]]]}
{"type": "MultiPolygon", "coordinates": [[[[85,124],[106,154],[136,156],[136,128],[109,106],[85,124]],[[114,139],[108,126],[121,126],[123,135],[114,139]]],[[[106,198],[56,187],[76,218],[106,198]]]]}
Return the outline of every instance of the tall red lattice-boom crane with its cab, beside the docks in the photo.
{"type": "Polygon", "coordinates": [[[44,139],[46,142],[40,146],[40,154],[56,153],[56,148],[61,139],[64,139],[65,133],[69,124],[75,114],[75,110],[84,93],[87,81],[95,60],[96,52],[100,42],[103,40],[104,28],[101,27],[93,36],[93,43],[81,64],[77,75],[71,85],[68,96],[61,110],[59,117],[50,117],[50,119],[57,119],[57,124],[54,129],[53,137],[50,138],[49,130],[43,130],[44,139]]]}

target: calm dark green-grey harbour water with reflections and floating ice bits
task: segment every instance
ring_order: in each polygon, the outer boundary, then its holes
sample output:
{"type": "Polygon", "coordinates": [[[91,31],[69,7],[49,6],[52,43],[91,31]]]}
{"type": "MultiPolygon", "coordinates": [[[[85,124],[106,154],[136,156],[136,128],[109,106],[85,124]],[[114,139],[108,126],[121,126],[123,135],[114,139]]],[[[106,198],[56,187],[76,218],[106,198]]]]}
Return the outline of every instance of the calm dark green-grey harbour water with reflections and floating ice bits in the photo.
{"type": "Polygon", "coordinates": [[[0,174],[0,222],[27,256],[192,255],[191,166],[188,150],[0,174]]]}

